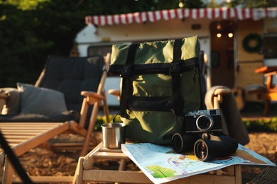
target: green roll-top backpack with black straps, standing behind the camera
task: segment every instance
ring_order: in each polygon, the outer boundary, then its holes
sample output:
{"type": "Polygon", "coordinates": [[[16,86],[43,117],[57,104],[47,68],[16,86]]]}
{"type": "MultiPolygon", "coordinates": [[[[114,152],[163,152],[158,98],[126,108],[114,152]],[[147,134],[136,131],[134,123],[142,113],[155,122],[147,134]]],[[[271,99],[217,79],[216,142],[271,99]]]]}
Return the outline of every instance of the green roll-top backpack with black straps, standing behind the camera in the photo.
{"type": "Polygon", "coordinates": [[[112,46],[109,73],[121,76],[126,139],[170,144],[183,115],[203,107],[199,51],[197,36],[112,46]]]}

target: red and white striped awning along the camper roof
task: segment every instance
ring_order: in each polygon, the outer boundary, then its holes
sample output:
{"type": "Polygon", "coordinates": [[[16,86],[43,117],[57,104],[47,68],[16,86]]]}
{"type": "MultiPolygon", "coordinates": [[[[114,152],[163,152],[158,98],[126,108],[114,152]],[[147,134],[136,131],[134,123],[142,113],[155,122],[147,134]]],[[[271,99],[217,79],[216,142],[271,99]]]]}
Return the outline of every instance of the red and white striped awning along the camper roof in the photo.
{"type": "Polygon", "coordinates": [[[173,18],[237,18],[238,20],[253,19],[258,21],[262,18],[276,18],[277,7],[273,8],[178,8],[162,11],[145,11],[136,13],[126,13],[118,15],[105,16],[86,16],[87,25],[94,24],[98,26],[145,23],[147,21],[155,22],[160,20],[170,20],[173,18]]]}

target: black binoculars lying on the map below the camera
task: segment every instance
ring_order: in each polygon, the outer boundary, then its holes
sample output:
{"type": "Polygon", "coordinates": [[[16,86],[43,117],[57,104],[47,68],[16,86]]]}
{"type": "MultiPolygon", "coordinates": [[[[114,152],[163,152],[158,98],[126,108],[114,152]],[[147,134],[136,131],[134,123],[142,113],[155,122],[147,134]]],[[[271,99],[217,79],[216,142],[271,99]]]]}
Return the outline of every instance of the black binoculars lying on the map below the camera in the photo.
{"type": "Polygon", "coordinates": [[[200,161],[211,161],[226,157],[237,151],[238,143],[232,137],[221,132],[173,134],[172,146],[176,153],[194,151],[200,161]]]}

